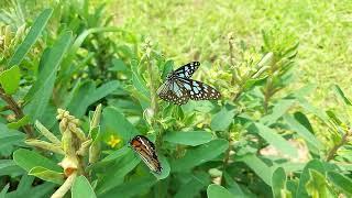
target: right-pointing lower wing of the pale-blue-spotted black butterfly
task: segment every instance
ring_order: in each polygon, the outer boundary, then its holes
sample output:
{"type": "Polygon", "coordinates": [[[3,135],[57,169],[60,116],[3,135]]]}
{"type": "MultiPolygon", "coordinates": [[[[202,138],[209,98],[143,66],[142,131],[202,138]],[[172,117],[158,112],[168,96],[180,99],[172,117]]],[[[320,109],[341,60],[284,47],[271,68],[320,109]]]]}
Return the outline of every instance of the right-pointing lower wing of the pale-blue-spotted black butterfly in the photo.
{"type": "Polygon", "coordinates": [[[183,84],[184,89],[187,90],[189,98],[193,100],[217,100],[221,97],[217,89],[201,81],[187,78],[177,78],[177,81],[183,84]]]}

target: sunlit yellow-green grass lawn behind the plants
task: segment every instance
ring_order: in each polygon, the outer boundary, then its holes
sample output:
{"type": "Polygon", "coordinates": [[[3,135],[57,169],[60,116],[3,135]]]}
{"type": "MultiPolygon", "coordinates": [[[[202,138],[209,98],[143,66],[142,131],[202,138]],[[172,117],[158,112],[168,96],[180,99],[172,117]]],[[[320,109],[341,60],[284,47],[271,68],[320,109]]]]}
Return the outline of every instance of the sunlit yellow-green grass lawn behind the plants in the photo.
{"type": "Polygon", "coordinates": [[[110,0],[114,23],[150,36],[176,65],[199,59],[219,64],[229,57],[227,36],[233,33],[260,50],[262,30],[278,29],[300,43],[297,88],[317,84],[316,106],[337,108],[331,86],[352,96],[352,1],[350,0],[110,0]]]}

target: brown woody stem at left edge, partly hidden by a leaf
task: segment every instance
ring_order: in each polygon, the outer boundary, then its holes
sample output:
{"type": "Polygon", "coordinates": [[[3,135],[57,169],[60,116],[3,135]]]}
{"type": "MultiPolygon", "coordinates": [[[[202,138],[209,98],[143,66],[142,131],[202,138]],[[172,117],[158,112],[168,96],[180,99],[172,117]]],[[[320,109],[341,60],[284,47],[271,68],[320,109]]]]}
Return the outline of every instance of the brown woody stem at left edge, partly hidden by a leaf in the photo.
{"type": "MultiPolygon", "coordinates": [[[[4,92],[2,87],[0,87],[0,98],[8,103],[9,109],[11,109],[13,111],[13,113],[18,120],[20,120],[24,117],[22,109],[19,107],[19,105],[15,102],[15,100],[11,96],[9,96],[4,92]]],[[[28,134],[28,138],[33,138],[33,129],[31,128],[31,125],[25,124],[22,127],[22,129],[23,129],[24,133],[28,134]]]]}

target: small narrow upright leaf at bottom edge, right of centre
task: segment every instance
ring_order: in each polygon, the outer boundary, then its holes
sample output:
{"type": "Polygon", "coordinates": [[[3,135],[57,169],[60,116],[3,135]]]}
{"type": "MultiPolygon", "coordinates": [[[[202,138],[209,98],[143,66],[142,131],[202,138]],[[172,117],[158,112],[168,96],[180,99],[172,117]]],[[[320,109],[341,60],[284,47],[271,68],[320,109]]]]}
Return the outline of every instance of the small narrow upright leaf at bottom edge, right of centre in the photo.
{"type": "Polygon", "coordinates": [[[273,196],[275,198],[280,198],[282,190],[284,190],[285,188],[286,188],[286,173],[284,168],[278,167],[274,170],[273,177],[272,177],[273,196]]]}

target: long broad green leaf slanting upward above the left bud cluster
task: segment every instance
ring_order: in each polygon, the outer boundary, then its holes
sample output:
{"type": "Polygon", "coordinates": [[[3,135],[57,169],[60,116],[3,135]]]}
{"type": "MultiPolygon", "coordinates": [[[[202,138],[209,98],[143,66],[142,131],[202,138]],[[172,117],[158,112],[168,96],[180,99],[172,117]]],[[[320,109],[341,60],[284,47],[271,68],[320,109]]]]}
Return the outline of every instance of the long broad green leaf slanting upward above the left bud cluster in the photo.
{"type": "Polygon", "coordinates": [[[25,106],[24,111],[31,116],[33,121],[41,120],[47,107],[52,97],[57,69],[67,52],[72,38],[72,32],[65,32],[58,41],[56,41],[45,62],[45,67],[40,72],[37,80],[29,92],[29,95],[33,95],[33,97],[25,106]]]}

